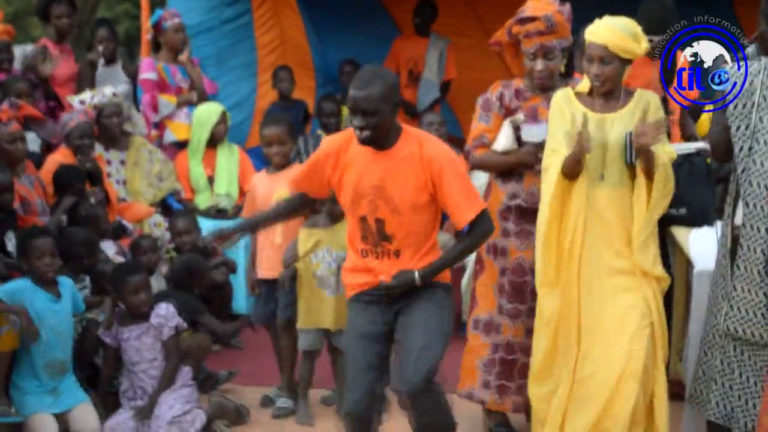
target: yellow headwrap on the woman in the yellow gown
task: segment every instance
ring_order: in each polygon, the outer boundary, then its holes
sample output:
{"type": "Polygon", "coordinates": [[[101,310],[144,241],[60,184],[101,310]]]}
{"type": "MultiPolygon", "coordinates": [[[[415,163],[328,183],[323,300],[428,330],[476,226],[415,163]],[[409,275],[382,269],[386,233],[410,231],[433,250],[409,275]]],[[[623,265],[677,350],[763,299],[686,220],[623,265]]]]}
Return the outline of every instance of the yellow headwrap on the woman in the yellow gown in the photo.
{"type": "MultiPolygon", "coordinates": [[[[640,24],[632,18],[621,15],[605,15],[598,18],[584,30],[584,42],[603,45],[617,56],[634,60],[648,52],[648,37],[640,24]]],[[[579,93],[589,91],[590,83],[586,75],[576,86],[579,93]]]]}

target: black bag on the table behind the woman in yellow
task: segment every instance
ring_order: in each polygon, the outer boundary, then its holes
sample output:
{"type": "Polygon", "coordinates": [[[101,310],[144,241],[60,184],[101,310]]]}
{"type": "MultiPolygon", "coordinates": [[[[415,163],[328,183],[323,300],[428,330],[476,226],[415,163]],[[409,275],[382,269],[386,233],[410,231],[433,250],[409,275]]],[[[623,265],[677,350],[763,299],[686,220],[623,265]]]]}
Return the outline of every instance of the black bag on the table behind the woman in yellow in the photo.
{"type": "Polygon", "coordinates": [[[672,170],[675,193],[661,223],[688,227],[712,225],[717,214],[717,193],[707,155],[701,152],[678,155],[672,170]]]}

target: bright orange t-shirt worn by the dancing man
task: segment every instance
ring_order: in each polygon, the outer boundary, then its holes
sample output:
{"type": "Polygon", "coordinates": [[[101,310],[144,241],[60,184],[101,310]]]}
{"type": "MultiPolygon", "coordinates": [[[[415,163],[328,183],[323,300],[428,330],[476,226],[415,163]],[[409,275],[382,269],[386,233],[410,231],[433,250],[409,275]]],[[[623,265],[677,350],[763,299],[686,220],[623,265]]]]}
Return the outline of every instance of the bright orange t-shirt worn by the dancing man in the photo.
{"type": "MultiPolygon", "coordinates": [[[[442,211],[465,227],[485,209],[461,158],[439,138],[406,125],[384,151],[361,145],[352,129],[330,135],[293,189],[314,198],[336,194],[348,223],[347,297],[436,260],[442,211]]],[[[437,280],[449,282],[450,275],[437,280]]]]}

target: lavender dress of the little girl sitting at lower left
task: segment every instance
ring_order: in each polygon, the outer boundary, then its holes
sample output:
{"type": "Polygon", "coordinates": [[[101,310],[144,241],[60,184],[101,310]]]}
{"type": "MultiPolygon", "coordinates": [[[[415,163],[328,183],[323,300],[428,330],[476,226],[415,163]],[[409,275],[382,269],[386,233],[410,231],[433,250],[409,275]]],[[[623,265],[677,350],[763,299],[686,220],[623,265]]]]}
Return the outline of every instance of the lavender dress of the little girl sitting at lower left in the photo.
{"type": "Polygon", "coordinates": [[[135,412],[147,403],[165,367],[163,341],[187,328],[170,303],[159,303],[149,321],[130,326],[114,325],[99,336],[109,346],[119,348],[123,359],[120,377],[120,409],[104,423],[105,432],[200,431],[205,426],[205,411],[192,369],[181,366],[176,381],[157,401],[152,418],[138,421],[135,412]]]}

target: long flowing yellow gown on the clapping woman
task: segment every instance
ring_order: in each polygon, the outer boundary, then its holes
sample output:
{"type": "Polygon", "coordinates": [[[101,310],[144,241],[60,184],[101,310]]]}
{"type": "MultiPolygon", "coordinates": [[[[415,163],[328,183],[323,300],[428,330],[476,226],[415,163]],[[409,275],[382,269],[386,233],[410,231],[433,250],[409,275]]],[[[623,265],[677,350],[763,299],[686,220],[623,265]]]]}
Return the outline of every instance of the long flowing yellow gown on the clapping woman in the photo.
{"type": "Polygon", "coordinates": [[[624,162],[624,137],[664,118],[637,90],[596,113],[565,88],[552,98],[536,229],[538,303],[529,376],[532,430],[669,429],[662,297],[669,285],[657,222],[674,192],[675,153],[654,147],[655,175],[624,162]],[[590,154],[575,181],[561,175],[583,117],[590,154]]]}

